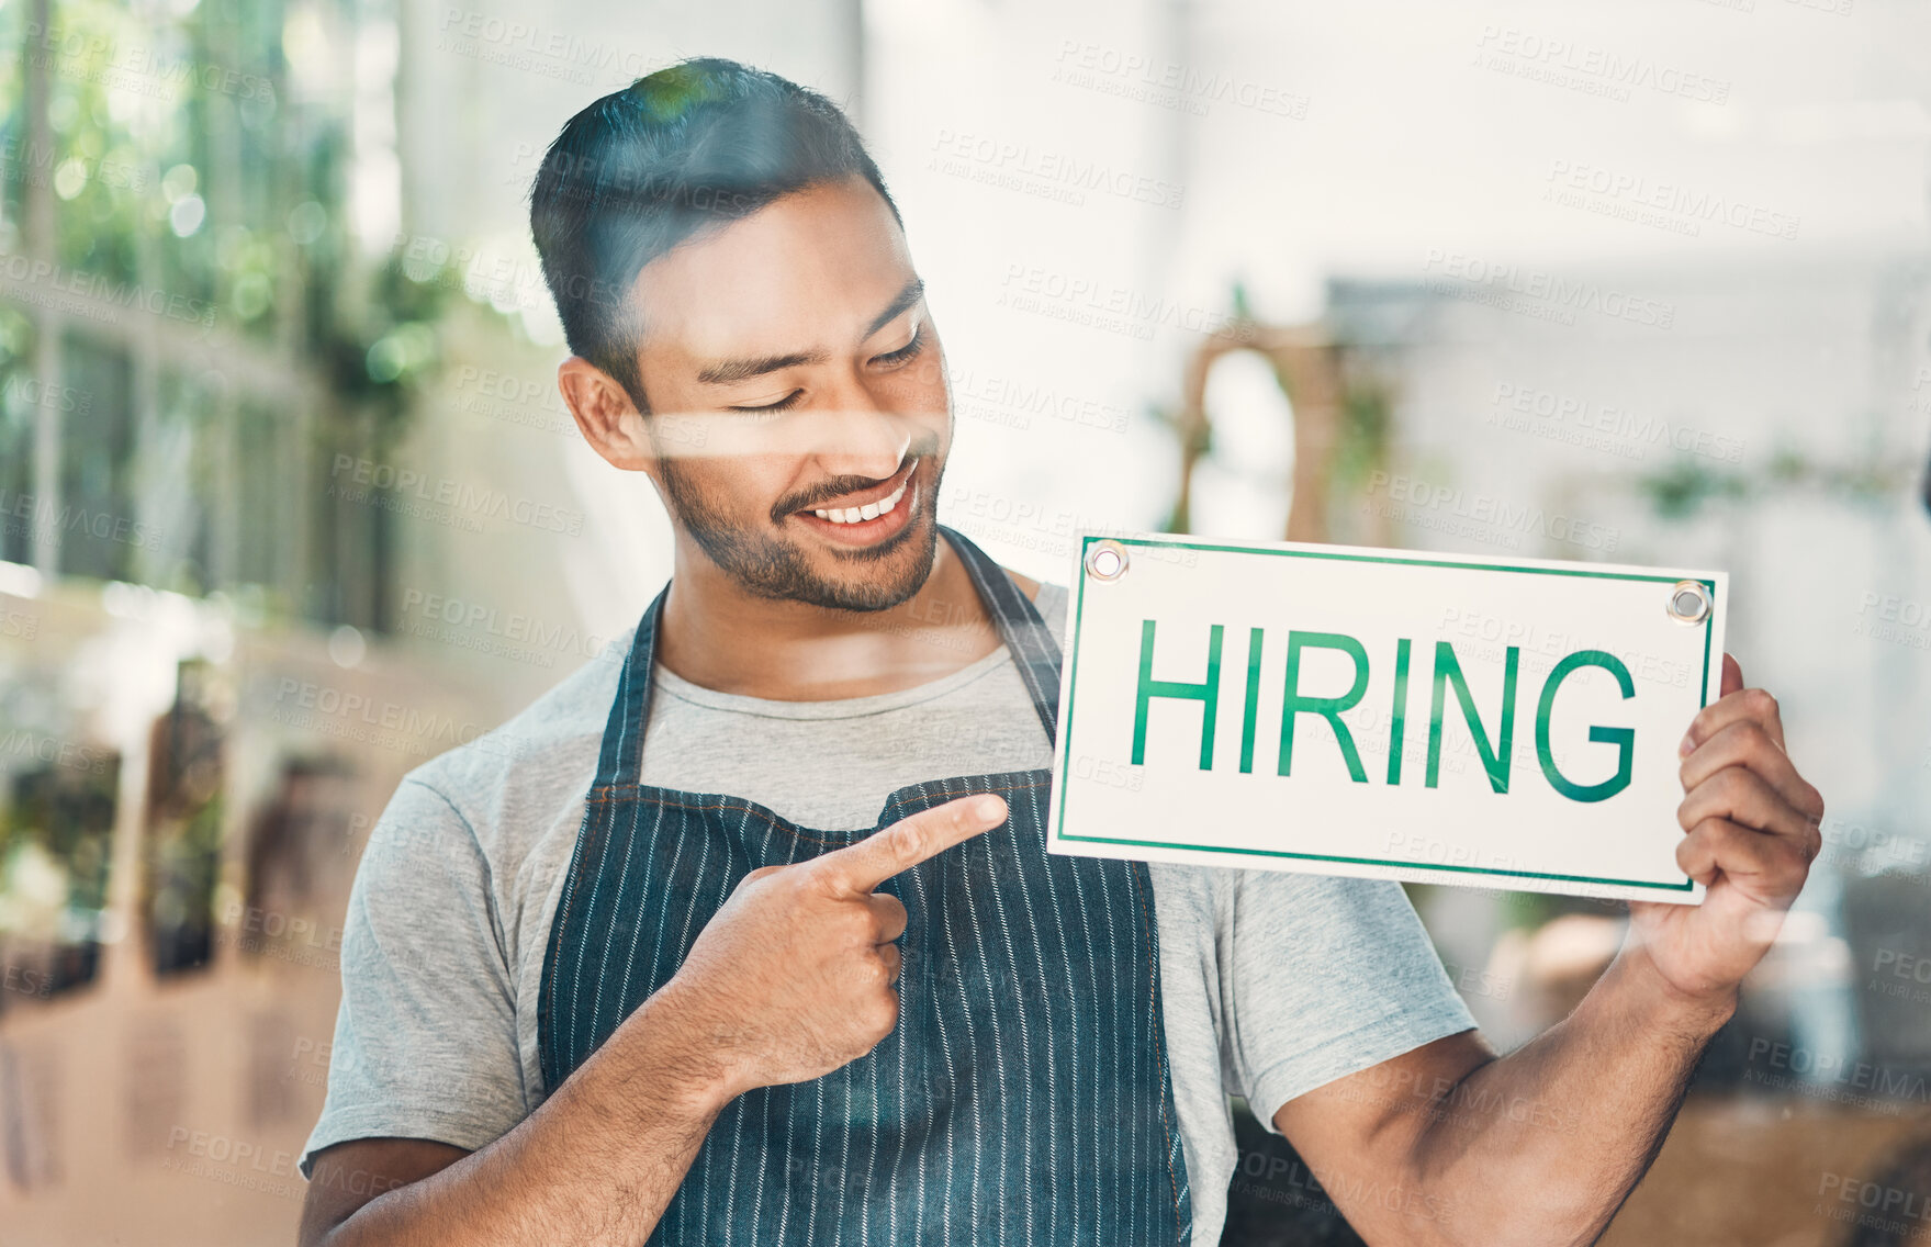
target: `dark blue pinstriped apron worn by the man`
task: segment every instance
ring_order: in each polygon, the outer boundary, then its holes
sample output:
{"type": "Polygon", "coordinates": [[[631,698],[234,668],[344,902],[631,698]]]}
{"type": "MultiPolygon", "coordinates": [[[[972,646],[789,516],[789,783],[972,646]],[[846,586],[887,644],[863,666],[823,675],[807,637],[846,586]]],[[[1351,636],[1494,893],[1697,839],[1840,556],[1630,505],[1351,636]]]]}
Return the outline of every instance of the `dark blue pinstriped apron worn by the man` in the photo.
{"type": "MultiPolygon", "coordinates": [[[[940,525],[1054,739],[1060,651],[1037,608],[940,525]]],[[[637,625],[550,925],[537,1039],[554,1089],[662,986],[743,874],[954,797],[1010,817],[886,880],[906,905],[898,1025],[716,1118],[649,1243],[1188,1243],[1145,863],[1047,853],[1050,770],[927,780],[823,832],[757,801],[639,784],[664,596],[637,625]]]]}

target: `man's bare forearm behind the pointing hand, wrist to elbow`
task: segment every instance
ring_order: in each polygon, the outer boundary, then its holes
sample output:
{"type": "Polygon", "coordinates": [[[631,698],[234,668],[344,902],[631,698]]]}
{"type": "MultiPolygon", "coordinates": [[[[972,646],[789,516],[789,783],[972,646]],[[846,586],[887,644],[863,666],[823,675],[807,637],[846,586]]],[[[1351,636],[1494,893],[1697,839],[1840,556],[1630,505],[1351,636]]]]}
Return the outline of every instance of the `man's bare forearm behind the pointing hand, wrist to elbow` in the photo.
{"type": "Polygon", "coordinates": [[[324,1247],[641,1243],[730,1095],[658,992],[516,1129],[373,1199],[324,1247]]]}

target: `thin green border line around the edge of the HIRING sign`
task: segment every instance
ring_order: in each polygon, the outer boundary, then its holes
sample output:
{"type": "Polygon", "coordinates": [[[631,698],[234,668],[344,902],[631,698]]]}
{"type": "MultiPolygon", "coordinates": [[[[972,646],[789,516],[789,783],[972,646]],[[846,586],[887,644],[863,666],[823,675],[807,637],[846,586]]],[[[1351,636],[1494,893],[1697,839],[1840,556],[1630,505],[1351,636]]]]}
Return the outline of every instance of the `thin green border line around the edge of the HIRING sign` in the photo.
{"type": "MultiPolygon", "coordinates": [[[[1448,560],[1448,558],[1388,558],[1388,556],[1379,556],[1379,554],[1340,554],[1340,552],[1327,552],[1327,550],[1273,550],[1273,548],[1267,548],[1267,546],[1230,546],[1230,544],[1197,542],[1197,540],[1149,540],[1145,537],[1105,537],[1101,533],[1089,533],[1089,535],[1085,535],[1085,537],[1079,539],[1079,560],[1074,564],[1074,568],[1077,569],[1079,593],[1074,596],[1074,620],[1072,620],[1070,635],[1076,637],[1076,639],[1079,635],[1079,614],[1085,610],[1085,583],[1087,583],[1087,577],[1085,577],[1085,554],[1087,554],[1087,546],[1091,542],[1095,542],[1095,540],[1112,540],[1112,542],[1118,542],[1122,546],[1149,546],[1149,548],[1162,548],[1162,550],[1174,550],[1174,548],[1178,548],[1178,550],[1209,550],[1209,552],[1224,552],[1224,554],[1276,554],[1276,556],[1286,556],[1286,558],[1332,558],[1332,560],[1354,562],[1354,564],[1410,564],[1410,566],[1417,566],[1417,568],[1460,568],[1460,569],[1471,569],[1471,571],[1520,571],[1520,573],[1527,573],[1527,575],[1585,575],[1589,579],[1599,579],[1599,581],[1659,581],[1659,583],[1674,585],[1676,581],[1684,579],[1680,575],[1643,575],[1643,573],[1637,573],[1637,571],[1589,571],[1585,566],[1578,566],[1578,568],[1520,568],[1520,566],[1510,566],[1510,564],[1466,564],[1466,562],[1454,562],[1454,560],[1448,560]]],[[[1715,618],[1717,618],[1717,612],[1715,612],[1717,581],[1695,581],[1695,583],[1699,583],[1705,589],[1709,589],[1709,596],[1711,596],[1711,616],[1709,616],[1709,620],[1703,620],[1703,679],[1697,683],[1697,699],[1699,699],[1697,705],[1699,707],[1707,707],[1709,705],[1709,701],[1707,701],[1707,697],[1709,697],[1709,647],[1711,647],[1711,633],[1717,631],[1711,625],[1715,622],[1715,618]]],[[[1068,778],[1072,776],[1072,761],[1074,761],[1072,759],[1072,749],[1074,749],[1074,689],[1077,687],[1077,683],[1079,683],[1079,647],[1074,645],[1074,654],[1072,654],[1072,660],[1068,662],[1068,672],[1066,672],[1066,714],[1064,714],[1064,722],[1060,724],[1060,774],[1068,776],[1068,778]]],[[[1412,869],[1412,871],[1444,871],[1444,873],[1489,874],[1489,876],[1497,876],[1498,874],[1498,876],[1514,876],[1514,878],[1547,878],[1551,882],[1564,882],[1564,884],[1618,884],[1618,886],[1624,886],[1624,888],[1655,888],[1657,892],[1690,892],[1695,886],[1695,880],[1690,878],[1688,874],[1684,876],[1684,882],[1680,882],[1680,884],[1659,884],[1659,882],[1653,882],[1653,880],[1647,880],[1647,878],[1595,878],[1591,874],[1541,874],[1537,871],[1498,871],[1498,869],[1491,869],[1491,867],[1450,867],[1450,865],[1439,865],[1439,863],[1433,863],[1433,861],[1398,861],[1398,859],[1392,859],[1392,857],[1336,857],[1336,855],[1329,855],[1329,853],[1288,853],[1288,851],[1282,851],[1282,849],[1238,849],[1238,847],[1220,845],[1220,844],[1176,844],[1172,840],[1122,840],[1122,838],[1114,838],[1114,836],[1068,836],[1066,834],[1066,801],[1068,801],[1070,795],[1072,795],[1070,790],[1062,790],[1060,791],[1060,824],[1054,828],[1054,834],[1056,834],[1058,840],[1077,840],[1077,842],[1087,842],[1087,844],[1124,844],[1124,845],[1143,847],[1143,849],[1193,849],[1197,853],[1251,853],[1255,857],[1298,857],[1298,859],[1303,859],[1303,861],[1334,861],[1334,863],[1356,865],[1356,867],[1406,867],[1406,869],[1412,869]]]]}

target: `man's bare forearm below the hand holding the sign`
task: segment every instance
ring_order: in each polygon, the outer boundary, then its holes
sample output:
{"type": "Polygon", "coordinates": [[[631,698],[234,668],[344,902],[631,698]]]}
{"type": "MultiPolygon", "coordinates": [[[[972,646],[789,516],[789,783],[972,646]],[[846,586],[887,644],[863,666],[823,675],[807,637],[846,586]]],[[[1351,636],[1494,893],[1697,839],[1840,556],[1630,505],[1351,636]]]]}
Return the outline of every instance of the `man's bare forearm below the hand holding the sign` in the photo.
{"type": "Polygon", "coordinates": [[[1624,950],[1576,1011],[1437,1098],[1413,1176],[1452,1243],[1593,1243],[1668,1133],[1736,1008],[1668,988],[1624,950]]]}

